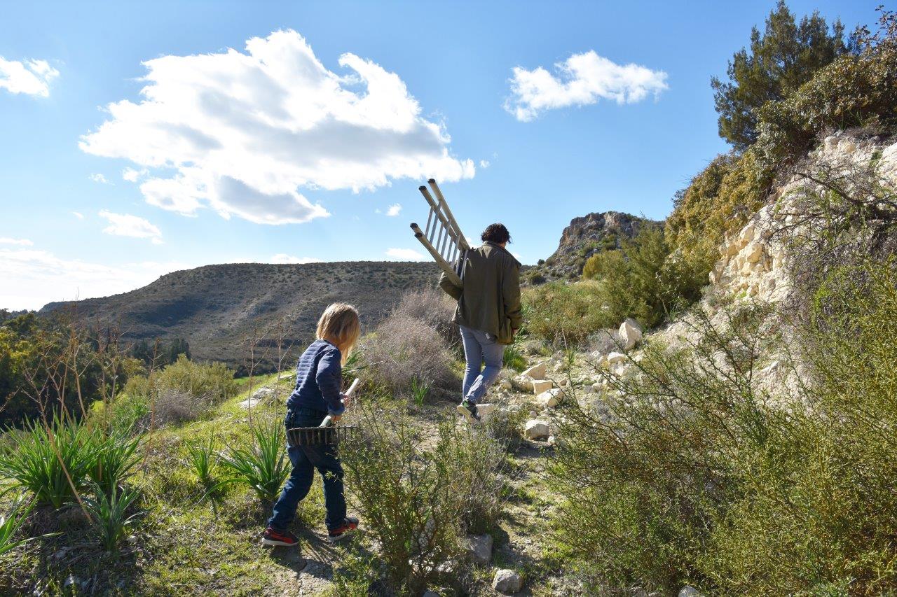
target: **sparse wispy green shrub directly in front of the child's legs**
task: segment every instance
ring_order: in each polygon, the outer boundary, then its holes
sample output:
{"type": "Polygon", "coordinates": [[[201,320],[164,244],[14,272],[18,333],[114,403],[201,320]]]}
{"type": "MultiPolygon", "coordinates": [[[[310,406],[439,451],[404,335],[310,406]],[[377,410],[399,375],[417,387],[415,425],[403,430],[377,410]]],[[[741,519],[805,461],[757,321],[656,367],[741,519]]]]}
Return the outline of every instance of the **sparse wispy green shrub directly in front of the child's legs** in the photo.
{"type": "Polygon", "coordinates": [[[354,504],[380,543],[389,586],[417,595],[461,554],[459,537],[501,511],[499,463],[487,437],[440,423],[435,446],[396,413],[361,411],[362,434],[340,446],[354,504]]]}

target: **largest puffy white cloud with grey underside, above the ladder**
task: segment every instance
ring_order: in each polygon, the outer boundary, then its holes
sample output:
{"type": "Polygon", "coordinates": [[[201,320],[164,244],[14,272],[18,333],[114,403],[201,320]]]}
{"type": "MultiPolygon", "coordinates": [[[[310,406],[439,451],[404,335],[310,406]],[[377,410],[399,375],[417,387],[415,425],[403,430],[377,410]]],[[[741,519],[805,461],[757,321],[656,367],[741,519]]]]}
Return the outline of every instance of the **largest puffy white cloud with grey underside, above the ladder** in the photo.
{"type": "MultiPolygon", "coordinates": [[[[398,75],[353,54],[328,70],[293,30],[201,56],[161,56],[139,103],[109,104],[83,151],[149,170],[148,203],[184,214],[210,207],[266,224],[327,216],[302,193],[375,189],[396,178],[473,177],[422,117],[398,75]]],[[[137,170],[123,173],[138,179],[137,170]]]]}

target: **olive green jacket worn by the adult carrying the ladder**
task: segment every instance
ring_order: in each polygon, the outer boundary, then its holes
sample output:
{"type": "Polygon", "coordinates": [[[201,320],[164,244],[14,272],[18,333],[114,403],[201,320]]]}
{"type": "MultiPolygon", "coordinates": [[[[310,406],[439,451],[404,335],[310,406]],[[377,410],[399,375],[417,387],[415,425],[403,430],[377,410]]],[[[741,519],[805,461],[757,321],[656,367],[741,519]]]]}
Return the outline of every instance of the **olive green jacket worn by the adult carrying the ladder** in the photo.
{"type": "Polygon", "coordinates": [[[498,337],[500,344],[514,342],[511,330],[520,329],[520,264],[506,249],[484,243],[467,252],[464,288],[443,273],[440,288],[457,299],[452,321],[498,337]]]}

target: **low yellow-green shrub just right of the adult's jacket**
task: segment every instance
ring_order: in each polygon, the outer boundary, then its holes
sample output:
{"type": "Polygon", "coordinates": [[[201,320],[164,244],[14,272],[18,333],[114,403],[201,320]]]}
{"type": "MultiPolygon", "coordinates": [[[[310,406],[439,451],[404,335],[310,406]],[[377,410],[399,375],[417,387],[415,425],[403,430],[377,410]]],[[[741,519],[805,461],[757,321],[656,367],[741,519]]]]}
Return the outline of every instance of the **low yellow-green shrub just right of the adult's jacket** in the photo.
{"type": "MultiPolygon", "coordinates": [[[[601,308],[594,282],[551,282],[523,292],[527,332],[553,345],[575,345],[588,334],[614,325],[601,308]]],[[[619,324],[619,322],[617,322],[619,324]]]]}

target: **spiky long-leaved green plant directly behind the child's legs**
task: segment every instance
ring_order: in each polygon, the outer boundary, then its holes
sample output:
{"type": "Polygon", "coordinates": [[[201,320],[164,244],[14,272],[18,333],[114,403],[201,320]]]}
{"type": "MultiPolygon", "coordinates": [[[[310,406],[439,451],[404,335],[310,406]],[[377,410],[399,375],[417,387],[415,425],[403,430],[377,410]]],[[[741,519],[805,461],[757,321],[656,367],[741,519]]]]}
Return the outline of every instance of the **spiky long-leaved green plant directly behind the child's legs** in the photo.
{"type": "Polygon", "coordinates": [[[248,446],[234,447],[227,454],[221,454],[222,467],[231,477],[220,481],[216,487],[233,483],[248,485],[263,503],[272,504],[291,470],[283,421],[257,422],[250,426],[250,434],[252,440],[248,446]]]}

